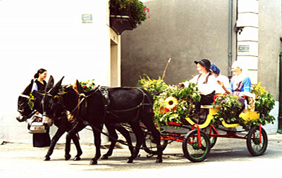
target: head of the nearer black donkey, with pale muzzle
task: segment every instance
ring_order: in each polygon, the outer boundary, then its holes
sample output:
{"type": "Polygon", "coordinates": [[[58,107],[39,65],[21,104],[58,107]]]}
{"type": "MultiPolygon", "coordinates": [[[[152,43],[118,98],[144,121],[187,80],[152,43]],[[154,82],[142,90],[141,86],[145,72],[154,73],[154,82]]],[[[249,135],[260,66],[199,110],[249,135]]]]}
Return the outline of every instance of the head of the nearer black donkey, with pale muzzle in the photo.
{"type": "MultiPolygon", "coordinates": [[[[61,89],[62,81],[63,77],[51,89],[46,87],[42,98],[41,107],[43,113],[43,124],[47,127],[51,127],[54,118],[58,117],[59,113],[63,112],[63,107],[61,106],[61,95],[63,95],[63,93],[59,91],[61,89]]],[[[50,84],[48,82],[47,86],[49,85],[50,84]]]]}

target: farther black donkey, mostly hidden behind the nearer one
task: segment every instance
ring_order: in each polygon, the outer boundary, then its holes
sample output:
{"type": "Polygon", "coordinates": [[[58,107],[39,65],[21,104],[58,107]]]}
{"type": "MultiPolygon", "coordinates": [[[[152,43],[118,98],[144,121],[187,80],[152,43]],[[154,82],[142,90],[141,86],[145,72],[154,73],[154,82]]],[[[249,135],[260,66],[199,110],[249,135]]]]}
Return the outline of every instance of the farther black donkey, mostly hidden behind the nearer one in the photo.
{"type": "MultiPolygon", "coordinates": [[[[39,113],[42,113],[42,107],[40,105],[42,101],[42,97],[44,94],[39,93],[37,91],[32,91],[32,95],[35,96],[35,106],[33,107],[33,110],[30,109],[30,107],[27,105],[27,102],[30,98],[30,92],[32,89],[32,84],[33,80],[30,82],[30,84],[26,87],[25,91],[19,96],[18,98],[18,112],[20,115],[17,117],[17,120],[19,122],[23,122],[27,120],[29,117],[32,117],[32,115],[35,113],[36,110],[39,111],[39,113]]],[[[54,79],[52,76],[50,76],[49,82],[46,87],[46,91],[49,91],[51,87],[53,87],[54,84],[54,79]]],[[[68,122],[68,118],[66,117],[65,109],[62,108],[60,105],[57,106],[56,112],[54,113],[54,117],[56,119],[54,120],[54,125],[58,127],[56,134],[52,137],[51,139],[51,144],[49,146],[49,150],[47,151],[47,155],[45,155],[45,160],[50,160],[50,156],[54,151],[54,147],[56,146],[56,142],[59,141],[61,136],[65,132],[69,132],[71,128],[74,127],[74,125],[77,125],[78,130],[77,132],[80,132],[82,129],[84,129],[87,125],[85,125],[83,122],[68,122]]],[[[107,151],[106,154],[103,155],[102,159],[107,159],[109,156],[112,155],[114,151],[114,146],[116,145],[116,139],[118,139],[118,135],[115,132],[115,129],[118,130],[126,139],[129,145],[130,152],[133,153],[133,146],[132,146],[132,141],[130,139],[130,134],[128,130],[126,130],[124,127],[121,125],[106,125],[106,128],[109,130],[109,134],[111,137],[114,137],[115,139],[111,139],[111,145],[109,147],[109,151],[107,151]]],[[[78,153],[75,155],[75,158],[73,160],[80,160],[80,155],[82,155],[82,149],[80,148],[80,143],[78,140],[78,137],[73,134],[71,137],[66,136],[66,146],[65,146],[65,159],[69,160],[71,158],[71,139],[73,140],[73,143],[75,144],[75,148],[77,149],[78,153]]]]}

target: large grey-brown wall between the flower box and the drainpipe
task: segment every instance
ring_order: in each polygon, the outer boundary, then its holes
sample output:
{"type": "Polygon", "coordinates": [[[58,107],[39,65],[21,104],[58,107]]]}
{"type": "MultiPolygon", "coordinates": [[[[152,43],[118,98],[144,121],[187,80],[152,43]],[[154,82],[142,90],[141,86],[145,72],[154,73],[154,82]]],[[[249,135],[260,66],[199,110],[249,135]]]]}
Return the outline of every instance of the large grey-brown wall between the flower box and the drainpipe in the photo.
{"type": "MultiPolygon", "coordinates": [[[[152,0],[148,20],[122,38],[122,84],[136,86],[140,75],[178,84],[197,74],[194,61],[207,58],[228,75],[228,1],[152,0]]],[[[233,7],[235,12],[235,6],[233,7]]],[[[235,25],[235,15],[233,19],[235,25]]],[[[235,33],[233,33],[235,60],[235,33]]]]}

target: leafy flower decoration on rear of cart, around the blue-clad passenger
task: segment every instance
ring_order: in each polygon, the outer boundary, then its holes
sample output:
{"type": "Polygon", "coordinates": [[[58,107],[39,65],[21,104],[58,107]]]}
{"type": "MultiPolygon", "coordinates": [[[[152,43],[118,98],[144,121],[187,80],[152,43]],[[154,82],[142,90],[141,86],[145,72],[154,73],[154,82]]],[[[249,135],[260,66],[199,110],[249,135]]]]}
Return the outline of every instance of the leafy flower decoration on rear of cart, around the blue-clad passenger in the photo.
{"type": "MultiPolygon", "coordinates": [[[[274,108],[275,100],[272,95],[261,87],[261,83],[252,85],[252,94],[255,94],[255,107],[248,107],[249,110],[255,111],[259,117],[243,118],[238,115],[241,103],[238,101],[238,96],[231,94],[217,96],[214,102],[214,108],[218,112],[214,114],[212,120],[213,125],[219,125],[222,120],[228,123],[238,123],[246,131],[250,130],[252,125],[266,125],[267,123],[274,123],[274,116],[270,115],[270,111],[274,108]]],[[[248,100],[248,106],[251,101],[248,100]]]]}

